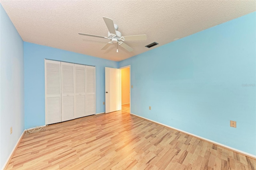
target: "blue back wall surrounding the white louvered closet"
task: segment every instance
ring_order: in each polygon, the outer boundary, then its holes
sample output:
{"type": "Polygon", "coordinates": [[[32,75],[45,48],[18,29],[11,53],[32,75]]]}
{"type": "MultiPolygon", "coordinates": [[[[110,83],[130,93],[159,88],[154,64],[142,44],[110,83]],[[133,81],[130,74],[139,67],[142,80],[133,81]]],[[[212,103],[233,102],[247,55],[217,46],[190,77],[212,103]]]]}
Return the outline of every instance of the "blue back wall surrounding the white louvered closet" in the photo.
{"type": "Polygon", "coordinates": [[[96,113],[105,111],[105,67],[117,62],[24,42],[25,128],[45,125],[44,59],[96,66],[96,113]]]}

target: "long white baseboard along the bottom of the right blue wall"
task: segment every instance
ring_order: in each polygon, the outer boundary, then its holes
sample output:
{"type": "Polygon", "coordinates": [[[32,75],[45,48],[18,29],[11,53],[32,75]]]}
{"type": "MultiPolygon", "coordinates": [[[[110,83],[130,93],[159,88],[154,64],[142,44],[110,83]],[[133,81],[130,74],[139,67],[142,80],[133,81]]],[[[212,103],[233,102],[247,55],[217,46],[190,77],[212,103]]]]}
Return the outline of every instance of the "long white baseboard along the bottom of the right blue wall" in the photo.
{"type": "MultiPolygon", "coordinates": [[[[130,114],[135,115],[135,116],[138,116],[138,115],[133,114],[133,113],[130,113],[130,114]]],[[[175,128],[175,127],[171,127],[171,126],[165,125],[165,124],[163,124],[163,123],[159,123],[159,122],[157,122],[157,121],[153,121],[153,120],[151,120],[151,119],[147,119],[147,118],[142,117],[142,116],[138,116],[138,117],[140,117],[140,118],[142,118],[142,119],[146,119],[146,120],[152,121],[152,122],[154,122],[154,123],[158,123],[158,124],[160,124],[160,125],[169,127],[169,128],[171,128],[171,129],[174,129],[174,130],[177,130],[177,131],[186,133],[186,134],[188,134],[188,135],[197,137],[197,138],[202,139],[202,140],[204,140],[204,141],[208,141],[208,142],[210,142],[210,143],[214,143],[214,144],[219,145],[219,146],[221,146],[221,147],[228,148],[228,149],[234,150],[234,151],[236,151],[236,152],[239,152],[239,153],[248,155],[248,156],[250,156],[250,157],[252,157],[252,158],[256,158],[256,155],[254,155],[254,154],[250,154],[250,153],[244,152],[244,151],[242,151],[242,150],[234,149],[234,148],[229,147],[229,146],[227,146],[227,145],[223,145],[223,144],[221,144],[221,143],[218,143],[218,142],[215,142],[215,141],[211,141],[211,140],[206,139],[206,138],[204,138],[204,137],[200,137],[200,136],[198,136],[198,135],[194,135],[194,134],[192,134],[192,133],[189,133],[189,132],[186,132],[186,131],[182,131],[182,130],[177,129],[177,128],[175,128]]]]}

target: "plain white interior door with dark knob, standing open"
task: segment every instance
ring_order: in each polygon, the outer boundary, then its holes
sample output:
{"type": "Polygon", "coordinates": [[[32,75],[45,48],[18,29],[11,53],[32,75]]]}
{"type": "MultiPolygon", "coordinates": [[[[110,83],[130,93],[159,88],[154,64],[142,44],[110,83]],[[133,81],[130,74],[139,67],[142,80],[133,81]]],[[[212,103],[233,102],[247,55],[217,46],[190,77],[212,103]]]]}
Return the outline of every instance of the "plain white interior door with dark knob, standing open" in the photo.
{"type": "Polygon", "coordinates": [[[120,69],[105,67],[105,113],[121,110],[120,69]]]}

